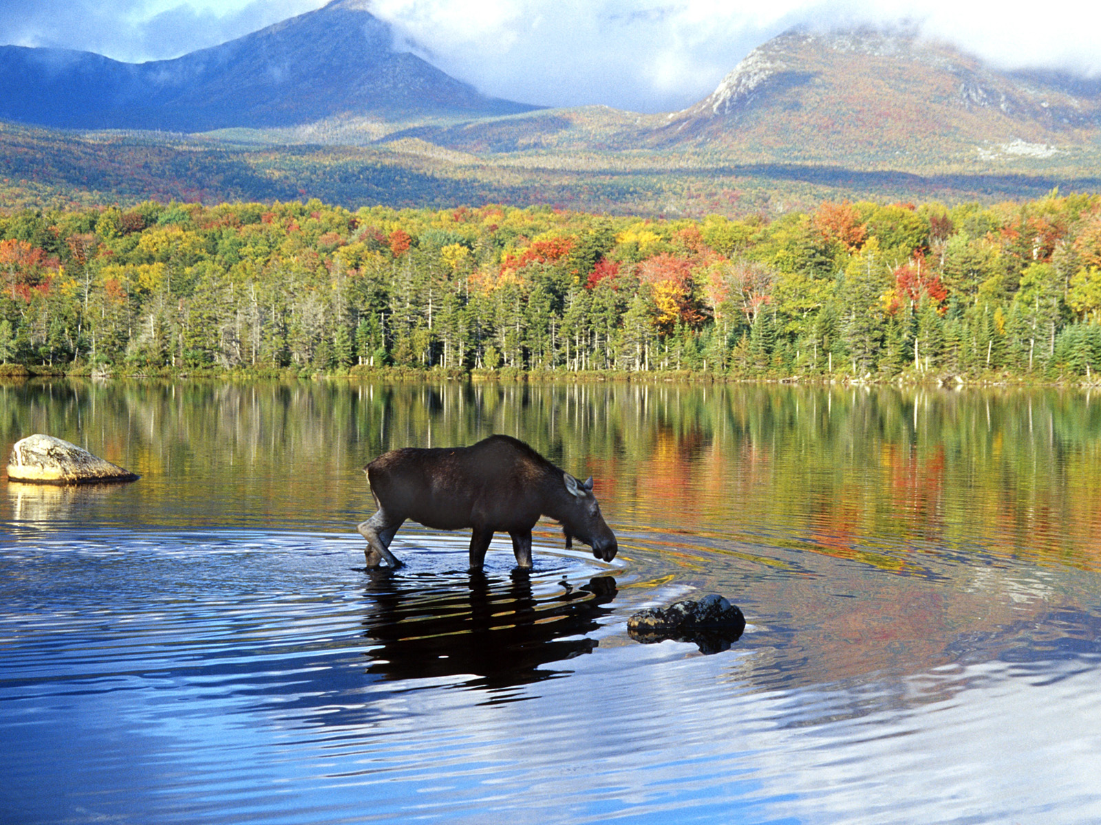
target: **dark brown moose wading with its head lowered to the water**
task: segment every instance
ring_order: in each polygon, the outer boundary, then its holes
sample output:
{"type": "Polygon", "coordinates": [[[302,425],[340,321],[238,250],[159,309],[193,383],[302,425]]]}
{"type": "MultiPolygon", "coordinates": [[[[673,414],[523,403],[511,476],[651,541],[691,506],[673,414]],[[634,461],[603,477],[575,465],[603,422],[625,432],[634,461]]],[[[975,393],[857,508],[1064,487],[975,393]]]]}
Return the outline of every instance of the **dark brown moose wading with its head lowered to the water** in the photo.
{"type": "Polygon", "coordinates": [[[580,482],[523,441],[490,436],[470,447],[401,448],[366,468],[378,512],[358,526],[367,539],[368,568],[402,566],[390,542],[406,519],[439,530],[471,528],[470,569],[480,570],[494,532],[512,538],[516,564],[532,566],[532,527],[539,516],[558,521],[566,546],[574,538],[611,561],[619,546],[592,495],[580,482]]]}

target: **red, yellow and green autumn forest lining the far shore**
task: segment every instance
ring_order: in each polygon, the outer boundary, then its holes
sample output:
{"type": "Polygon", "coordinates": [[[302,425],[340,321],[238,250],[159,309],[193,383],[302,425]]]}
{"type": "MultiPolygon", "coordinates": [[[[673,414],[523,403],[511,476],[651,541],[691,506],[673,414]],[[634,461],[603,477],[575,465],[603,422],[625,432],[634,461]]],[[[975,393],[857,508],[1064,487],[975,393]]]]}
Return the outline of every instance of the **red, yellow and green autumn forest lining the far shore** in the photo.
{"type": "Polygon", "coordinates": [[[661,220],[145,201],[0,213],[0,373],[1086,381],[1101,196],[661,220]]]}

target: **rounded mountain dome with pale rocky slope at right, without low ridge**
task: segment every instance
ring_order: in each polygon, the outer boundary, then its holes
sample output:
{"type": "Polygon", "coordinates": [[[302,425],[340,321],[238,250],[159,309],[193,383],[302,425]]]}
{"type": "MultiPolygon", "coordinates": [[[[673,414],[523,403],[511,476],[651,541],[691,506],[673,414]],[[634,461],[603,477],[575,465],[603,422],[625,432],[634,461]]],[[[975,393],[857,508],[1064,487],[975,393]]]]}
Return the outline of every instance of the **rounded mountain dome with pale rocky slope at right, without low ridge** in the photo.
{"type": "Polygon", "coordinates": [[[648,142],[846,164],[945,162],[1002,146],[1043,155],[1098,134],[1099,92],[1081,78],[1000,72],[914,33],[792,31],[669,114],[648,142]]]}

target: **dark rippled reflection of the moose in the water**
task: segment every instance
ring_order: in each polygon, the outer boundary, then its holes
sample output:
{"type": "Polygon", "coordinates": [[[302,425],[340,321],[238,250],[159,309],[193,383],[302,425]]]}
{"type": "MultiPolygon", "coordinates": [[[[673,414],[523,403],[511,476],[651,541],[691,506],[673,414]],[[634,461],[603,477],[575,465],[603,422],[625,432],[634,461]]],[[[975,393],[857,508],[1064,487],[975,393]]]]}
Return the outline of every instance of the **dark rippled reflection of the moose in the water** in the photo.
{"type": "Polygon", "coordinates": [[[618,593],[607,575],[560,586],[565,593],[539,597],[523,569],[508,580],[475,571],[466,588],[374,573],[364,624],[381,647],[370,652],[370,671],[386,680],[466,676],[464,686],[492,691],[549,679],[559,671],[541,666],[597,647],[585,636],[611,613],[604,605],[618,593]]]}

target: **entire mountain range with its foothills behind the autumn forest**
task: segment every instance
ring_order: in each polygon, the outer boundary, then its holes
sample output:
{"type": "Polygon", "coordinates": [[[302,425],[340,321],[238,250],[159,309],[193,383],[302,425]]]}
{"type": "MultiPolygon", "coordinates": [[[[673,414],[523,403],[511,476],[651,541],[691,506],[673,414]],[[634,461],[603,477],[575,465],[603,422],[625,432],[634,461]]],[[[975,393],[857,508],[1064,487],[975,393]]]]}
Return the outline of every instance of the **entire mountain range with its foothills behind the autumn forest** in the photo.
{"type": "Polygon", "coordinates": [[[1101,82],[1000,72],[906,32],[788,32],[668,114],[484,98],[394,51],[352,0],[154,64],[0,50],[0,210],[317,197],[776,215],[1101,191],[1099,168],[1101,82]],[[4,123],[6,108],[134,131],[4,123]]]}

